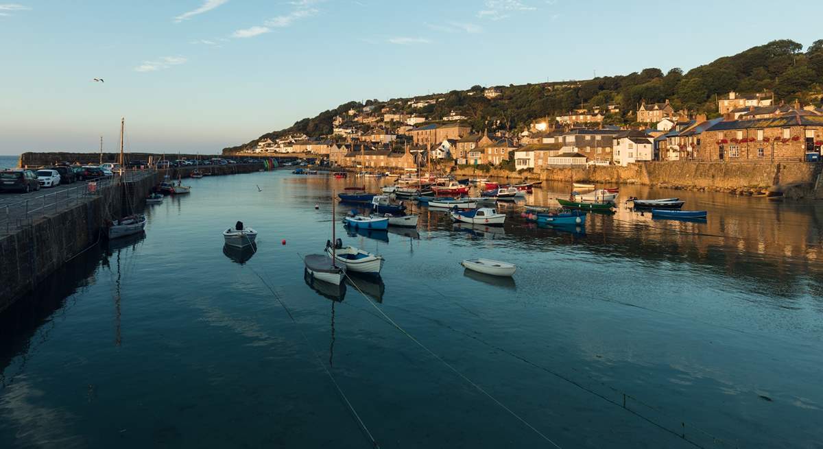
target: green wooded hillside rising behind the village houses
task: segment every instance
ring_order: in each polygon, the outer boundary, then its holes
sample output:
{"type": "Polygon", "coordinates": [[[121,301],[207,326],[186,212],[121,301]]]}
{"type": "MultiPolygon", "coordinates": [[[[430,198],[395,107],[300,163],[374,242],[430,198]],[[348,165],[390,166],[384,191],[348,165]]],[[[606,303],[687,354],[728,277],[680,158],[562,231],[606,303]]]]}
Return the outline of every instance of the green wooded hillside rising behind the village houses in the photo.
{"type": "Polygon", "coordinates": [[[775,99],[786,103],[800,100],[803,104],[820,104],[823,93],[823,39],[816,40],[803,52],[802,44],[792,40],[774,40],[765,45],[747,49],[733,56],[718,58],[687,73],[673,68],[663,73],[658,68],[644,68],[622,76],[601,76],[592,80],[571,83],[537,83],[520,86],[499,86],[502,95],[489,100],[482,95],[483,87],[452,90],[444,94],[425,95],[414,99],[388,101],[368,100],[365,104],[351,101],[335,109],[304,118],[291,127],[268,132],[244,145],[224,149],[234,152],[250,149],[264,138],[277,138],[291,133],[305,133],[309,137],[332,133],[332,121],[349,109],[379,105],[393,113],[423,114],[437,120],[457,111],[467,117],[475,130],[514,131],[528,126],[537,118],[568,113],[572,109],[620,105],[621,113],[610,113],[607,124],[632,123],[631,113],[641,102],[655,103],[669,100],[676,110],[690,113],[717,114],[715,95],[726,95],[730,90],[742,93],[774,92],[775,99]],[[424,108],[412,109],[410,100],[443,98],[424,108]]]}

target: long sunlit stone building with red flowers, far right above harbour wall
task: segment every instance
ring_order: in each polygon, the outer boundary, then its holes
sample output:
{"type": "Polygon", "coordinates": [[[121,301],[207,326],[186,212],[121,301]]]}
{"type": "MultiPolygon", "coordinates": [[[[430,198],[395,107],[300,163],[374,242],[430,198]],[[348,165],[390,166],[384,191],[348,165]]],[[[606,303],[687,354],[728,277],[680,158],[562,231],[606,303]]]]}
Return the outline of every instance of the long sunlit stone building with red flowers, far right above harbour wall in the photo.
{"type": "Polygon", "coordinates": [[[797,111],[778,118],[719,122],[703,132],[702,139],[695,160],[816,160],[823,146],[823,116],[797,111]]]}

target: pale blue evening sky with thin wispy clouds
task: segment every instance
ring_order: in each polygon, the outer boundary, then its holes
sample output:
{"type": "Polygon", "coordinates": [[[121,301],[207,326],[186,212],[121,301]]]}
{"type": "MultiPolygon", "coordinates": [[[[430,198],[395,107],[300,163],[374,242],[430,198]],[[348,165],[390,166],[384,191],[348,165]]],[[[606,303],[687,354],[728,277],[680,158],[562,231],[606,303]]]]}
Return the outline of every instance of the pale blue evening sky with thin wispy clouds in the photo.
{"type": "Polygon", "coordinates": [[[2,155],[116,150],[121,117],[127,150],[212,154],[350,100],[687,71],[823,38],[820,0],[11,1],[2,155]]]}

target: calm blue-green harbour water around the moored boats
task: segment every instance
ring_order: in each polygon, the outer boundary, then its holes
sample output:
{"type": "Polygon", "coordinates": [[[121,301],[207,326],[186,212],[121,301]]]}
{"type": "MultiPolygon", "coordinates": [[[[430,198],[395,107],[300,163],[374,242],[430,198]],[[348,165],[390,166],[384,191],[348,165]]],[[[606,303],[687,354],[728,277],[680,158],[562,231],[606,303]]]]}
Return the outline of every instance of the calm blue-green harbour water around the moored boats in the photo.
{"type": "Polygon", "coordinates": [[[323,367],[380,447],[554,447],[529,426],[559,447],[823,447],[823,206],[624,187],[708,223],[621,208],[543,229],[508,206],[488,231],[424,208],[419,235],[353,237],[338,208],[337,236],[386,263],[337,302],[300,255],[331,238],[343,181],[190,183],[145,238],[2,317],[0,447],[370,447],[323,367]],[[260,233],[244,264],[222,251],[236,220],[260,233]]]}

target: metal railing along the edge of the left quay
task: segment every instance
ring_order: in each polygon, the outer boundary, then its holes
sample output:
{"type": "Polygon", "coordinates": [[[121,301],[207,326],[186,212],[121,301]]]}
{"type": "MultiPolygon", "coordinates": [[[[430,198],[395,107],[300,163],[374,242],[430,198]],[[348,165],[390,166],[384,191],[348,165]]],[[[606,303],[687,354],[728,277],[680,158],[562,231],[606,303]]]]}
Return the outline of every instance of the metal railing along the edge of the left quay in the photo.
{"type": "Polygon", "coordinates": [[[81,201],[98,197],[104,189],[117,186],[121,182],[119,176],[100,177],[91,179],[81,186],[0,205],[0,232],[5,231],[8,234],[32,224],[37,218],[58,214],[72,206],[77,206],[81,201]]]}

